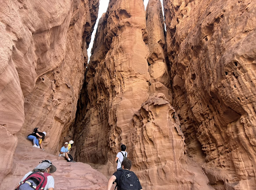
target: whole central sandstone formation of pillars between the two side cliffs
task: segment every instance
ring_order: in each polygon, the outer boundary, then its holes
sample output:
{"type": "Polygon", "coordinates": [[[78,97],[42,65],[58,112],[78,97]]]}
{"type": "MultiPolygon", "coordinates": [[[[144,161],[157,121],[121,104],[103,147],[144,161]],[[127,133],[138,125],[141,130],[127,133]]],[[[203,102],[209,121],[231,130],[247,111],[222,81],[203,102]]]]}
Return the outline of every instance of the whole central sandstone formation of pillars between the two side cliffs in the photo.
{"type": "Polygon", "coordinates": [[[146,13],[142,1],[110,0],[80,94],[75,157],[104,164],[109,175],[122,142],[143,189],[212,189],[184,153],[165,47],[159,0],[149,0],[146,13]]]}

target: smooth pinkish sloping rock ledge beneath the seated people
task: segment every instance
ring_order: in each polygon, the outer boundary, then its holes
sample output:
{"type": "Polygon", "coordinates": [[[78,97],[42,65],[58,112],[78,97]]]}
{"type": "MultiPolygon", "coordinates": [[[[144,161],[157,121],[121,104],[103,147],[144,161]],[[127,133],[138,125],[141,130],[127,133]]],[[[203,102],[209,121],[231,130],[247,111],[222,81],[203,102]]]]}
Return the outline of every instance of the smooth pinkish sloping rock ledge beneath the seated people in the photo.
{"type": "Polygon", "coordinates": [[[49,159],[57,170],[51,175],[54,178],[55,190],[64,189],[106,189],[107,178],[100,172],[92,169],[90,165],[81,162],[67,162],[40,148],[31,147],[27,143],[18,143],[14,152],[13,166],[1,182],[0,189],[14,189],[24,174],[31,171],[39,161],[49,159]]]}

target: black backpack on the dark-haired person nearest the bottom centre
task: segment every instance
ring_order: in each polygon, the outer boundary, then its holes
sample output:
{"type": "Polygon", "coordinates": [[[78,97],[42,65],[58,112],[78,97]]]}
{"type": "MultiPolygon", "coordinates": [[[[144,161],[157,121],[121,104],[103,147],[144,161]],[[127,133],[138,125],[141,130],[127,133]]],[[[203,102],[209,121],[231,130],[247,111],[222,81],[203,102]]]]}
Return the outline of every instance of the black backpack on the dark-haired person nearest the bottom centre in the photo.
{"type": "Polygon", "coordinates": [[[126,169],[122,169],[121,171],[122,173],[120,176],[120,184],[118,184],[120,186],[120,189],[121,190],[138,190],[138,177],[135,175],[135,173],[133,171],[129,171],[126,169]]]}

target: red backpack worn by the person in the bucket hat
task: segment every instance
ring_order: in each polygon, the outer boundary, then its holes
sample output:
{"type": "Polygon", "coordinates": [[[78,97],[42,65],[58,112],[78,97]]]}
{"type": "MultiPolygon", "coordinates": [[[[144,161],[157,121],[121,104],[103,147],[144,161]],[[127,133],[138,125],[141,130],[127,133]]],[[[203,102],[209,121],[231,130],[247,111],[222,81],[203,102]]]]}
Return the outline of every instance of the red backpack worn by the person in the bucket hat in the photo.
{"type": "MultiPolygon", "coordinates": [[[[34,171],[30,173],[15,190],[18,190],[20,186],[27,186],[27,189],[41,190],[44,189],[47,183],[47,176],[50,174],[47,172],[34,171]],[[30,188],[31,187],[31,188],[30,188]]],[[[22,188],[23,189],[23,188],[22,188]]]]}

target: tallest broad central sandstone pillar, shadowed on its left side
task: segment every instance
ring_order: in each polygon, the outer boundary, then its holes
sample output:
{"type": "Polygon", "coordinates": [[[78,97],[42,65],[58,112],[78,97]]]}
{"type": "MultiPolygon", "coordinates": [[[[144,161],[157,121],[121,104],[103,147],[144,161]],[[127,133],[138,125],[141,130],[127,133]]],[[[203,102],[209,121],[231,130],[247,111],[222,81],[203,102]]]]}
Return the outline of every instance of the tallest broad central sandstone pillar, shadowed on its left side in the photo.
{"type": "Polygon", "coordinates": [[[143,1],[109,1],[86,72],[86,98],[81,93],[78,105],[77,160],[106,163],[126,141],[130,119],[148,96],[145,28],[143,1]]]}

